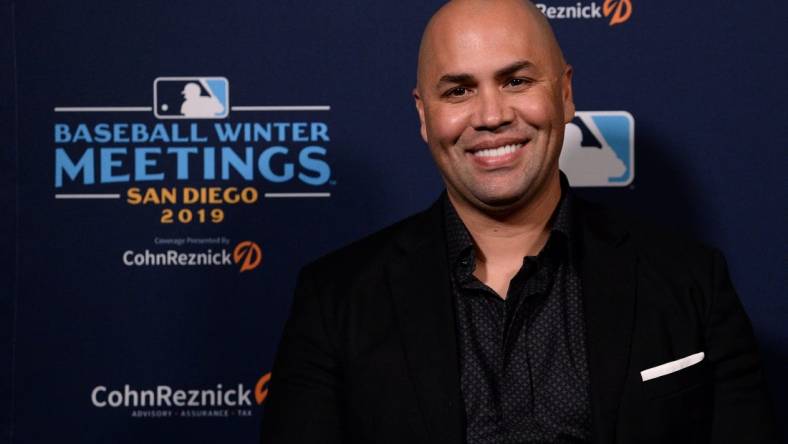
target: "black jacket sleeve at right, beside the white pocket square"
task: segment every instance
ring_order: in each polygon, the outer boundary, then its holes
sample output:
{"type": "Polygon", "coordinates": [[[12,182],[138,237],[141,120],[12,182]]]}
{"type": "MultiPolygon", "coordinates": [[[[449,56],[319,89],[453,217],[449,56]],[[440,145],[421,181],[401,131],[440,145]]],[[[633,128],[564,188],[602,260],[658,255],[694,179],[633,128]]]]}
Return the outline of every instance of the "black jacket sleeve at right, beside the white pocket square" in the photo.
{"type": "Polygon", "coordinates": [[[774,412],[752,326],[714,251],[706,347],[714,377],[712,443],[776,443],[774,412]]]}

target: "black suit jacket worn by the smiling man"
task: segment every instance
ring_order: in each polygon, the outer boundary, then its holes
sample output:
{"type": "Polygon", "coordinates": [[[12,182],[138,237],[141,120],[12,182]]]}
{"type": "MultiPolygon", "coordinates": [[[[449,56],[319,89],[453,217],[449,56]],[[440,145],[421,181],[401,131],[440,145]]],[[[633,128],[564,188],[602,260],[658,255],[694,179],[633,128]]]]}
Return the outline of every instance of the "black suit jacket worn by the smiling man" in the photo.
{"type": "MultiPolygon", "coordinates": [[[[776,442],[721,254],[576,204],[594,442],[776,442]]],[[[302,270],[269,389],[263,443],[465,441],[439,204],[302,270]]]]}

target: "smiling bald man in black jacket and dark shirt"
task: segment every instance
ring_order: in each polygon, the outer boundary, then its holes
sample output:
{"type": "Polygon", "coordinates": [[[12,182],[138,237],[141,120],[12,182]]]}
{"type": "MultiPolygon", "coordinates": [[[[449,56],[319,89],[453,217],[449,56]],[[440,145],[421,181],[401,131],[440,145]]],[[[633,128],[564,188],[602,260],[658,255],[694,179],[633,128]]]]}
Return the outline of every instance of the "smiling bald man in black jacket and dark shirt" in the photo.
{"type": "Polygon", "coordinates": [[[413,95],[446,194],[302,271],[262,442],[775,440],[721,255],[568,190],[571,80],[530,3],[435,14],[413,95]]]}

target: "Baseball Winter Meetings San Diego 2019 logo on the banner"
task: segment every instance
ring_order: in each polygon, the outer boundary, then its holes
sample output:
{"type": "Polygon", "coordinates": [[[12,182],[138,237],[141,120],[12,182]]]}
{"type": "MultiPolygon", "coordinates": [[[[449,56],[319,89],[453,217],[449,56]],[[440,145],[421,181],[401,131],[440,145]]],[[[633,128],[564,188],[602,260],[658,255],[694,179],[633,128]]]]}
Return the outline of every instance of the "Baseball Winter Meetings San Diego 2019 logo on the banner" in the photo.
{"type": "Polygon", "coordinates": [[[54,107],[56,199],[123,200],[193,226],[261,199],[331,197],[330,106],[231,105],[219,76],[157,77],[152,95],[152,106],[54,107]]]}

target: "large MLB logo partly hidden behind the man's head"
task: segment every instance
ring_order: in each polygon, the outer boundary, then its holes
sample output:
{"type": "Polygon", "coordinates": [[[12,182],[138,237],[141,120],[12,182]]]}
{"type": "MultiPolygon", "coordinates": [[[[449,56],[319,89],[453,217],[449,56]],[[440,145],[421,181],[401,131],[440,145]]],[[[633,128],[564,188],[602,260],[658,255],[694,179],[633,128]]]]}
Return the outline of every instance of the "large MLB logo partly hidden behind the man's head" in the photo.
{"type": "Polygon", "coordinates": [[[559,160],[573,187],[625,187],[635,179],[635,119],[626,111],[578,111],[559,160]]]}

